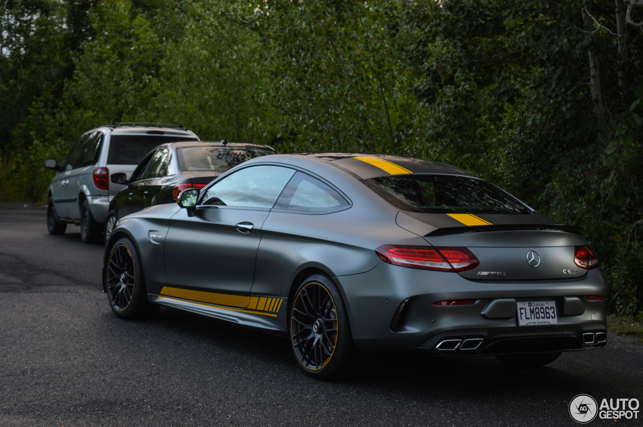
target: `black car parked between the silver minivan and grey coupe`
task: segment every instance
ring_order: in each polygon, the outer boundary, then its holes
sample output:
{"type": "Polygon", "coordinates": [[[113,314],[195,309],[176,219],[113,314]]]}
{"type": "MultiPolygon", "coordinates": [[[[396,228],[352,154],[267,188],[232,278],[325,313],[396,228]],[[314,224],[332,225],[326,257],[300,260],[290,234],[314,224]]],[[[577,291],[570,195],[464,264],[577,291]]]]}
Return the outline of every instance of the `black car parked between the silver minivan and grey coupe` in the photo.
{"type": "Polygon", "coordinates": [[[243,143],[166,143],[147,153],[129,180],[113,173],[111,181],[126,187],[110,201],[105,221],[105,240],[116,222],[144,207],[172,203],[181,191],[203,188],[233,166],[262,155],[275,154],[271,146],[243,143]]]}

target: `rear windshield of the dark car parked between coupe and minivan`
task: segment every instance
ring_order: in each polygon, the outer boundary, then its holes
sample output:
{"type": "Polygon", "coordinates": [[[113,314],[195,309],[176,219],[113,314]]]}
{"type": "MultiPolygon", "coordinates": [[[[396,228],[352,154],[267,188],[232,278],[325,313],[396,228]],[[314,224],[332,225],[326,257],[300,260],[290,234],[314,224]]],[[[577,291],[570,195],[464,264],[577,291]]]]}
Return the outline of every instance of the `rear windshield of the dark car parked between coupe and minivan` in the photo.
{"type": "Polygon", "coordinates": [[[225,172],[237,164],[262,155],[275,154],[260,147],[185,147],[176,150],[181,171],[225,172]]]}

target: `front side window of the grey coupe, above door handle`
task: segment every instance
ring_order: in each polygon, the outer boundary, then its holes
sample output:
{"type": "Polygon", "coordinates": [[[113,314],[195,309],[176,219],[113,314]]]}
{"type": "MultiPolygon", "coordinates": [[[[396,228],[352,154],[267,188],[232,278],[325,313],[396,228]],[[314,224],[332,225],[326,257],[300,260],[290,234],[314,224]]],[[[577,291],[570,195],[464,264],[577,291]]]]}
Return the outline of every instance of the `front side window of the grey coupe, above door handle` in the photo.
{"type": "Polygon", "coordinates": [[[271,208],[294,170],[281,166],[251,166],[228,175],[206,191],[204,205],[271,208]]]}

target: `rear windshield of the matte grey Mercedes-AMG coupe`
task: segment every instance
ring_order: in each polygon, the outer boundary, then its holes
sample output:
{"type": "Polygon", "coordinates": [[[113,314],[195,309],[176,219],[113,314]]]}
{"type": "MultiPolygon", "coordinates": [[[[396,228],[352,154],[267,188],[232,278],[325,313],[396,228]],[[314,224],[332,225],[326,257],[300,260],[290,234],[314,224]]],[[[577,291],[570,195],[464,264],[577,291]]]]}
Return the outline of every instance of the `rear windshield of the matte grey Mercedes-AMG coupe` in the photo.
{"type": "Polygon", "coordinates": [[[365,179],[363,182],[404,211],[531,213],[518,199],[482,179],[414,173],[365,179]]]}

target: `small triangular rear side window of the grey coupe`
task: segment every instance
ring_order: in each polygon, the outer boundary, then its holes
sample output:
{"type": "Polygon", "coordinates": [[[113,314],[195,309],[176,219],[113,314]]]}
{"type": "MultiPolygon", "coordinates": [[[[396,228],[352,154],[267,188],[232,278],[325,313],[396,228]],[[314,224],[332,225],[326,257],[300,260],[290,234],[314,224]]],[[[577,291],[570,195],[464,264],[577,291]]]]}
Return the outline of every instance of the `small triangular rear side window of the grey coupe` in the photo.
{"type": "Polygon", "coordinates": [[[320,180],[297,172],[275,204],[275,209],[326,212],[349,206],[340,193],[320,180]]]}

